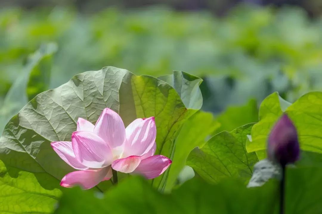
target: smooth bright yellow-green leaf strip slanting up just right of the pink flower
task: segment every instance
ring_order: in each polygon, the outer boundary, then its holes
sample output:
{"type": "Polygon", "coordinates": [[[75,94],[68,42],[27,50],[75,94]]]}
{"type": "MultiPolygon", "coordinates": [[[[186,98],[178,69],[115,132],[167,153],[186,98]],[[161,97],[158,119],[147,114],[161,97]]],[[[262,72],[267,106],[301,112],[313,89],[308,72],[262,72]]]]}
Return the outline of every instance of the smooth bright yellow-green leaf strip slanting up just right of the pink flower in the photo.
{"type": "Polygon", "coordinates": [[[191,150],[195,147],[202,147],[207,137],[218,127],[219,123],[214,121],[213,115],[203,111],[197,112],[185,122],[175,139],[175,154],[168,171],[165,191],[171,190],[175,185],[191,150]]]}

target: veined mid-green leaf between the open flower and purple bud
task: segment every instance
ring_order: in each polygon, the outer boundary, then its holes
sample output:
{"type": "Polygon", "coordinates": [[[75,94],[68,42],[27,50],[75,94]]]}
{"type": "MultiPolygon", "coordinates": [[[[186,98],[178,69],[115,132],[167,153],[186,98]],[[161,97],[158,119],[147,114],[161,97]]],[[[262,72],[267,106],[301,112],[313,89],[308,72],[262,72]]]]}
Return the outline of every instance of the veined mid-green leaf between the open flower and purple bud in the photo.
{"type": "Polygon", "coordinates": [[[227,177],[249,179],[252,167],[258,161],[256,154],[245,149],[247,135],[253,124],[247,124],[232,132],[221,132],[213,136],[200,149],[195,148],[186,164],[201,177],[216,183],[227,177]]]}

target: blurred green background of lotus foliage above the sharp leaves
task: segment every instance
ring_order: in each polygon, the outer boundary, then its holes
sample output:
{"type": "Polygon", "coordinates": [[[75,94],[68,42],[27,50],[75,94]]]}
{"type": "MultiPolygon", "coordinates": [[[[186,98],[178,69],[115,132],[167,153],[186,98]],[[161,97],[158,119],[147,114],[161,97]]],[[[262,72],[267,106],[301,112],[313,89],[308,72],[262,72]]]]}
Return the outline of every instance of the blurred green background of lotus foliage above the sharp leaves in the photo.
{"type": "Polygon", "coordinates": [[[214,114],[273,91],[292,102],[322,89],[318,0],[14,0],[0,8],[0,132],[37,93],[108,65],[197,75],[203,109],[214,114]]]}

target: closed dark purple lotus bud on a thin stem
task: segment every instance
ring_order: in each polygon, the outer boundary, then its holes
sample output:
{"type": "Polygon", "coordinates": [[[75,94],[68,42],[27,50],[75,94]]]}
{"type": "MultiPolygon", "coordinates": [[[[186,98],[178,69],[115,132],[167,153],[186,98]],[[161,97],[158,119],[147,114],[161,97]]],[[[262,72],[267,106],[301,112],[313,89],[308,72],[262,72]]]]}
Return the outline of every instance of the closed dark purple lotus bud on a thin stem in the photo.
{"type": "Polygon", "coordinates": [[[283,114],[270,132],[267,156],[271,161],[286,165],[297,161],[299,153],[296,128],[289,116],[283,114]]]}

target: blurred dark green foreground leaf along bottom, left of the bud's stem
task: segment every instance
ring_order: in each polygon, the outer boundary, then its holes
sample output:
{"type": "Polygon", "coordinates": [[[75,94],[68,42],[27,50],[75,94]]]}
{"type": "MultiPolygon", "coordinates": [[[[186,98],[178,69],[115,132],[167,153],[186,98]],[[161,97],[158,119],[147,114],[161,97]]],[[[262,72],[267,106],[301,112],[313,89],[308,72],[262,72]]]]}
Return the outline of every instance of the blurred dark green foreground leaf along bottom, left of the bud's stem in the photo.
{"type": "Polygon", "coordinates": [[[80,189],[64,194],[56,214],[60,213],[270,213],[274,199],[267,185],[258,190],[246,189],[242,182],[227,181],[210,185],[201,179],[192,179],[170,195],[161,194],[140,178],[120,183],[101,196],[80,189]],[[80,196],[80,197],[78,197],[80,196]],[[243,197],[241,197],[243,196],[243,197]],[[75,198],[77,197],[77,200],[75,198]],[[260,203],[260,199],[267,203],[260,203]],[[236,203],[236,200],[239,203],[236,203]],[[89,201],[90,204],[86,205],[89,201]],[[84,206],[83,210],[81,207],[84,206]],[[257,208],[257,209],[255,209],[257,208]]]}

